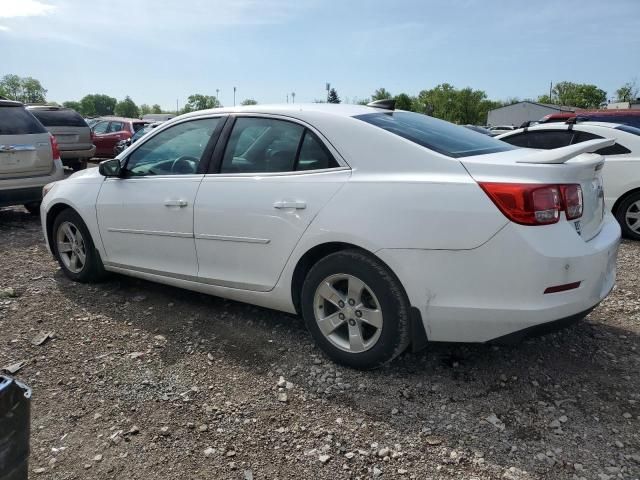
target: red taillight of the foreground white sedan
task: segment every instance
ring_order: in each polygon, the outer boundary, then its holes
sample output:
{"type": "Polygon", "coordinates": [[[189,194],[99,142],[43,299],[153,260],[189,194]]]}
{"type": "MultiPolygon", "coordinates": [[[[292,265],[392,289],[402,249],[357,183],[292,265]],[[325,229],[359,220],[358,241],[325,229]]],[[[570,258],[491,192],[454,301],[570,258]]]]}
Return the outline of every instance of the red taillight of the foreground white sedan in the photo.
{"type": "Polygon", "coordinates": [[[582,216],[580,185],[481,182],[480,187],[512,222],[520,225],[550,225],[582,216]]]}

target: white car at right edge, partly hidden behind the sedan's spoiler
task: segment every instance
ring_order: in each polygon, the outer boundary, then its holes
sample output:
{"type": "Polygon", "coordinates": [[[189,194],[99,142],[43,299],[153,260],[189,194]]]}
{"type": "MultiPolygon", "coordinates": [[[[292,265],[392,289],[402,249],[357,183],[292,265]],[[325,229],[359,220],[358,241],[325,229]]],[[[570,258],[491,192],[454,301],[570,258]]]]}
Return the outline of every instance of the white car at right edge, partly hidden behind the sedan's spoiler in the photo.
{"type": "Polygon", "coordinates": [[[606,122],[546,123],[498,138],[511,145],[542,150],[615,139],[615,144],[595,152],[606,159],[605,207],[618,219],[625,237],[640,240],[640,129],[606,122]]]}

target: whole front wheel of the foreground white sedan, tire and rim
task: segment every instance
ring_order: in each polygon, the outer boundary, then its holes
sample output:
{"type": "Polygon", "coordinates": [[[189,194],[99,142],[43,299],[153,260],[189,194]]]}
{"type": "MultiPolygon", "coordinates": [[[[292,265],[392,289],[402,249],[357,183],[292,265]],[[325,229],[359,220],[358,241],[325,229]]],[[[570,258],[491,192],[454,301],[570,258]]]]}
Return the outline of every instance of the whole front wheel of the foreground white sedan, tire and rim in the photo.
{"type": "Polygon", "coordinates": [[[77,212],[70,208],[60,212],[53,221],[51,232],[54,255],[68,278],[75,282],[92,283],[106,276],[91,234],[77,212]],[[75,243],[69,240],[71,237],[75,238],[75,243]],[[84,262],[81,254],[84,254],[84,262]]]}

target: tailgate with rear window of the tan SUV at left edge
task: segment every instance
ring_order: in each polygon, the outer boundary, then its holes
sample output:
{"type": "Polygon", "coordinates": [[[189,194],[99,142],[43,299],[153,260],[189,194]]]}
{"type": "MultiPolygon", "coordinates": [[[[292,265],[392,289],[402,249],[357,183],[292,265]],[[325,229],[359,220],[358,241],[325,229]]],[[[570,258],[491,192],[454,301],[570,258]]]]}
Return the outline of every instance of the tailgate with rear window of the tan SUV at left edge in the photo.
{"type": "Polygon", "coordinates": [[[52,169],[49,132],[21,104],[0,101],[0,180],[47,175],[52,169]]]}

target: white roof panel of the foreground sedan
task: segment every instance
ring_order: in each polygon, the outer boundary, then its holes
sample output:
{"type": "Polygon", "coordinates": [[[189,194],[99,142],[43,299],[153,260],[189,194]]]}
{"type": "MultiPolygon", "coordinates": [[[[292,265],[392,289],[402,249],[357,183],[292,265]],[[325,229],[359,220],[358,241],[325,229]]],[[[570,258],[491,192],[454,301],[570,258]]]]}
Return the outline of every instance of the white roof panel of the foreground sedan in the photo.
{"type": "MultiPolygon", "coordinates": [[[[356,115],[385,111],[388,110],[367,107],[366,105],[347,105],[335,103],[285,103],[274,105],[247,105],[237,107],[212,108],[209,110],[198,110],[195,112],[187,113],[176,118],[197,117],[203,114],[206,115],[211,113],[273,113],[296,116],[297,114],[300,114],[302,112],[317,112],[341,117],[354,117],[356,115]]],[[[175,118],[173,118],[172,120],[175,120],[175,118]]]]}

